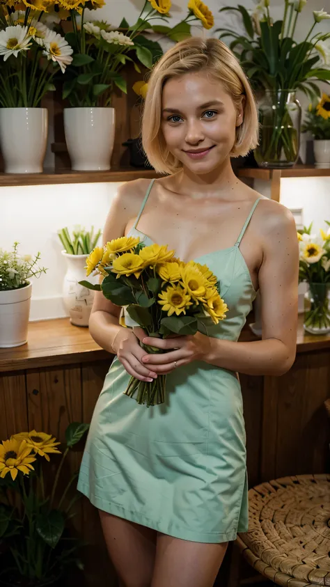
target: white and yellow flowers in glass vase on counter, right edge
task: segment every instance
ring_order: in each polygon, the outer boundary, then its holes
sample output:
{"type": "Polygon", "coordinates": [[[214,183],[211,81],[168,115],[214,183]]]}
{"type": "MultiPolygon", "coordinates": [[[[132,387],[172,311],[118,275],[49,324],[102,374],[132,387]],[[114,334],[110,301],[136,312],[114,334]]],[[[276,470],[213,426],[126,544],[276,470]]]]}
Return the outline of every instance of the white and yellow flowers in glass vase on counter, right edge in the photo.
{"type": "MultiPolygon", "coordinates": [[[[330,222],[326,221],[330,227],[330,222]]],[[[299,283],[308,283],[304,299],[304,329],[309,334],[330,332],[330,228],[311,234],[311,226],[299,230],[299,283]]]]}

